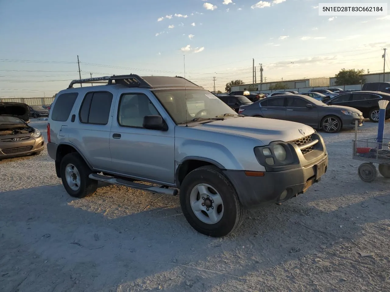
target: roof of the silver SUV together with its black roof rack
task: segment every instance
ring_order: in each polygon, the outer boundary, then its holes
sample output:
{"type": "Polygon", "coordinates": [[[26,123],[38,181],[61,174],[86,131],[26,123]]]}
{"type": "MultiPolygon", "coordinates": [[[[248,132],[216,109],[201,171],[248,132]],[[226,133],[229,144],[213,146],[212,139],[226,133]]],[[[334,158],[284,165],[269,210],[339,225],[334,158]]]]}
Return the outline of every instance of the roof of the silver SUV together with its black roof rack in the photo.
{"type": "Polygon", "coordinates": [[[181,76],[168,77],[168,76],[138,76],[137,74],[129,75],[113,75],[94,77],[87,79],[76,79],[71,81],[68,88],[73,88],[73,84],[82,83],[103,83],[107,85],[122,84],[127,87],[138,87],[138,88],[161,88],[161,87],[196,87],[200,86],[185,79],[181,76]],[[113,83],[115,81],[115,83],[113,83]]]}

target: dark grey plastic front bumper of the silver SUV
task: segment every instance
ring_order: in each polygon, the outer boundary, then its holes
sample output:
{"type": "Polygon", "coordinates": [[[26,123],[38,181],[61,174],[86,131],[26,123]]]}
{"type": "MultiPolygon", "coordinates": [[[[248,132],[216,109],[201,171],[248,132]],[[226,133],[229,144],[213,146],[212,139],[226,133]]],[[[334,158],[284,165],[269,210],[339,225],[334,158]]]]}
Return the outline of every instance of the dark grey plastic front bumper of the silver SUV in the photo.
{"type": "Polygon", "coordinates": [[[267,202],[284,202],[304,193],[320,181],[328,169],[328,154],[315,162],[285,171],[267,171],[264,176],[247,176],[245,171],[223,171],[236,189],[238,198],[246,208],[254,208],[267,202]],[[287,195],[280,196],[287,190],[287,195]]]}

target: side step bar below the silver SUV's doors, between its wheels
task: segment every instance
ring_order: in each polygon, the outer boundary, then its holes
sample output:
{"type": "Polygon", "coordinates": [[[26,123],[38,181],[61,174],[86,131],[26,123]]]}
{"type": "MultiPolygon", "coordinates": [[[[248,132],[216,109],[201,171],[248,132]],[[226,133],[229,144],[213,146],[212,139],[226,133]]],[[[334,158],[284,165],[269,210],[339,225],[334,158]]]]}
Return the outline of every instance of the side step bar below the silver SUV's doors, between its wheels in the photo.
{"type": "Polygon", "coordinates": [[[95,174],[95,173],[91,173],[89,175],[89,178],[95,179],[97,181],[103,181],[105,183],[112,183],[113,185],[128,186],[129,188],[135,188],[137,190],[143,190],[146,192],[161,193],[163,195],[176,196],[177,193],[179,192],[178,190],[173,188],[163,188],[160,186],[144,185],[143,183],[133,183],[132,181],[126,181],[125,179],[112,178],[112,177],[102,176],[100,174],[95,174]]]}

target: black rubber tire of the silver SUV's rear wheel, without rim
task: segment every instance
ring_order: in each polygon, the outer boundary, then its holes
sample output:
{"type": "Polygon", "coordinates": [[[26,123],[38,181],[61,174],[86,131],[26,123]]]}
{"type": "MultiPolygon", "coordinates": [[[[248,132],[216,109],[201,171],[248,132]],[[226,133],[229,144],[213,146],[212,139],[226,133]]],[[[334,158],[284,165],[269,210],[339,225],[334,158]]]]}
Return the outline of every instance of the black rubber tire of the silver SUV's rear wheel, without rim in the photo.
{"type": "Polygon", "coordinates": [[[89,178],[89,175],[91,173],[91,169],[78,153],[69,153],[65,155],[64,158],[62,158],[61,160],[60,174],[62,184],[64,185],[64,188],[67,193],[69,193],[69,195],[71,195],[72,197],[84,198],[96,192],[97,181],[89,178]],[[80,179],[80,183],[78,184],[78,188],[76,190],[72,189],[67,182],[67,176],[65,174],[65,171],[69,165],[73,165],[79,174],[79,176],[76,175],[76,179],[80,179]]]}

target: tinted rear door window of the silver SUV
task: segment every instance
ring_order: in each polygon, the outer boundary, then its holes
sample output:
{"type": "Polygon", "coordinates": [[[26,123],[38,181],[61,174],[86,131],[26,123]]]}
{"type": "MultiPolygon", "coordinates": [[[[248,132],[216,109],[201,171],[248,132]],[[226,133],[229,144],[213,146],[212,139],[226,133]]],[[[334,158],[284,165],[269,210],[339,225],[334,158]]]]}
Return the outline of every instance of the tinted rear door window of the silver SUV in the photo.
{"type": "Polygon", "coordinates": [[[99,91],[87,93],[80,108],[80,122],[107,125],[111,103],[112,93],[110,92],[99,91]]]}

